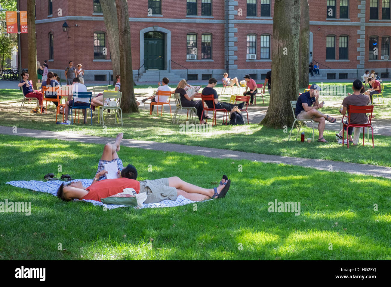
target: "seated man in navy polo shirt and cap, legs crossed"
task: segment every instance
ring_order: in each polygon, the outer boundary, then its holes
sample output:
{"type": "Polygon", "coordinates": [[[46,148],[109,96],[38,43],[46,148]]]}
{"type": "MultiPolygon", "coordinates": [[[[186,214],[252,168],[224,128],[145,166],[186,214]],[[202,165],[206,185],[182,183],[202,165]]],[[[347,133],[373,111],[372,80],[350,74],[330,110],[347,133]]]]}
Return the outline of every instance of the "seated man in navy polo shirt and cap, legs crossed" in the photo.
{"type": "Polygon", "coordinates": [[[295,116],[297,119],[313,119],[318,122],[319,139],[322,143],[328,143],[323,137],[323,131],[325,130],[325,120],[330,123],[335,123],[336,119],[331,116],[327,116],[317,111],[317,109],[323,107],[323,103],[319,103],[319,91],[321,88],[317,84],[312,84],[308,92],[302,93],[297,102],[295,116]]]}

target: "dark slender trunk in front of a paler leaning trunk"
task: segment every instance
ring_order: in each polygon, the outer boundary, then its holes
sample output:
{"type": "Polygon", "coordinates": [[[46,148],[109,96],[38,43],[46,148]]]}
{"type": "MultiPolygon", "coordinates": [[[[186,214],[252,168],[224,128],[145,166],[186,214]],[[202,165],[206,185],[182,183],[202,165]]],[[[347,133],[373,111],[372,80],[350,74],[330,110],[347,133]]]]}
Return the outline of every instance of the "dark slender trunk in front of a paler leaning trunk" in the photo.
{"type": "Polygon", "coordinates": [[[133,89],[132,51],[130,41],[129,10],[126,0],[115,0],[117,5],[118,34],[121,71],[121,109],[123,112],[138,112],[133,89]]]}

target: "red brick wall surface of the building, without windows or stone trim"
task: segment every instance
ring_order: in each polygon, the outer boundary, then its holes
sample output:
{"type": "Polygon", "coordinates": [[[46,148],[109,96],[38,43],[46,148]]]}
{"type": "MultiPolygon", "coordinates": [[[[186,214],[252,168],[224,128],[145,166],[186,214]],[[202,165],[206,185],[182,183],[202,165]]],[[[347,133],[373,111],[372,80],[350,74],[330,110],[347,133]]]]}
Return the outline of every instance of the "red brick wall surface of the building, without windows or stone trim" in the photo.
{"type": "MultiPolygon", "coordinates": [[[[257,16],[260,16],[260,1],[257,1],[257,16]]],[[[335,22],[334,20],[326,20],[326,1],[309,0],[310,4],[310,21],[325,21],[327,23],[335,22]]],[[[339,18],[339,0],[336,0],[336,18],[339,18]]],[[[357,9],[357,5],[360,1],[349,1],[349,19],[348,22],[359,22],[357,14],[360,12],[357,9]]],[[[27,6],[27,0],[21,0],[21,10],[25,10],[27,6]]],[[[210,24],[210,23],[176,23],[176,22],[152,22],[152,19],[164,19],[164,18],[178,18],[178,19],[192,19],[198,20],[199,18],[186,17],[186,2],[177,0],[163,0],[161,2],[161,11],[163,17],[148,17],[148,3],[146,0],[136,1],[129,0],[129,15],[131,17],[145,18],[148,22],[130,22],[131,26],[131,41],[132,41],[132,62],[133,69],[136,70],[140,66],[140,30],[146,27],[152,27],[157,25],[171,31],[171,59],[189,69],[225,69],[224,51],[224,0],[212,1],[212,15],[213,20],[223,20],[223,23],[210,24]],[[183,2],[183,3],[182,3],[183,2]],[[186,35],[190,32],[196,32],[198,34],[197,46],[198,46],[198,59],[201,58],[201,34],[212,34],[212,59],[213,62],[187,62],[186,61],[186,35]]],[[[246,1],[238,1],[236,10],[242,9],[242,16],[235,15],[235,20],[246,20],[246,1]]],[[[379,1],[379,18],[381,18],[381,1],[379,1]]],[[[274,0],[271,1],[271,16],[274,13],[274,0]]],[[[100,15],[93,14],[93,1],[74,1],[68,2],[53,2],[53,17],[48,18],[48,1],[37,0],[36,1],[36,20],[55,19],[65,16],[90,16],[102,19],[100,15]],[[57,9],[62,9],[62,16],[57,15],[57,9]]],[[[197,15],[201,16],[201,1],[198,1],[197,15]]],[[[201,18],[202,19],[202,18],[201,18]]],[[[207,19],[207,18],[204,18],[207,19]]],[[[247,19],[248,20],[248,19],[247,19]]],[[[254,20],[254,19],[251,19],[254,20]]],[[[264,19],[260,19],[264,20],[264,19]]],[[[50,62],[50,68],[53,69],[65,69],[68,66],[68,61],[72,60],[74,64],[81,63],[86,70],[111,70],[111,62],[93,62],[93,33],[96,31],[106,31],[104,21],[86,21],[86,20],[67,20],[69,28],[68,38],[66,32],[62,31],[62,25],[64,21],[60,20],[51,23],[36,24],[37,33],[37,59],[40,62],[48,60],[49,48],[48,48],[48,34],[54,32],[54,62],[50,62]],[[80,27],[74,27],[75,25],[80,27]]],[[[379,23],[378,21],[369,21],[369,1],[367,1],[366,7],[366,23],[379,23]]],[[[380,22],[381,23],[381,22],[380,22]]],[[[389,22],[388,22],[389,23],[389,22]]],[[[319,61],[331,68],[345,68],[355,69],[359,61],[357,56],[360,54],[357,52],[357,48],[360,46],[357,43],[359,35],[357,30],[360,29],[360,24],[357,26],[343,26],[343,25],[310,25],[310,31],[313,33],[313,59],[319,61]],[[318,31],[318,27],[320,30],[318,31]],[[335,35],[335,59],[339,59],[339,36],[349,36],[349,60],[350,62],[326,62],[326,36],[335,35]]],[[[238,65],[238,69],[270,69],[271,62],[246,62],[246,35],[254,33],[257,35],[256,47],[257,47],[257,59],[260,58],[260,35],[272,34],[273,26],[271,24],[235,24],[235,28],[238,32],[234,34],[238,38],[235,45],[238,47],[238,51],[235,52],[238,59],[234,61],[238,65]]],[[[365,37],[365,66],[375,66],[376,68],[388,68],[389,62],[368,62],[368,43],[369,36],[378,36],[379,54],[378,59],[381,57],[381,37],[391,36],[390,27],[369,27],[366,26],[365,37]]],[[[27,35],[22,34],[22,66],[27,67],[27,35]]],[[[107,42],[107,36],[106,36],[107,42]]],[[[273,43],[273,37],[271,37],[271,43],[273,43]]],[[[109,45],[108,55],[106,59],[109,59],[109,45]]],[[[173,66],[174,68],[174,66],[173,66]]]]}

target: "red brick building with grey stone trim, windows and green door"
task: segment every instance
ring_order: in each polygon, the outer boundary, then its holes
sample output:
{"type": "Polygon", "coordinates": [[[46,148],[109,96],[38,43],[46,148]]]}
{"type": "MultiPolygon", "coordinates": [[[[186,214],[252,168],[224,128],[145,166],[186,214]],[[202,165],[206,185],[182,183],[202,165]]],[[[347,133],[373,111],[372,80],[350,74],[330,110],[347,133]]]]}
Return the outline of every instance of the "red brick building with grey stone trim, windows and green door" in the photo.
{"type": "MultiPolygon", "coordinates": [[[[320,78],[357,78],[365,69],[389,77],[390,0],[308,0],[310,55],[320,78]]],[[[128,0],[137,80],[180,78],[258,81],[271,68],[274,0],[128,0]],[[228,14],[228,17],[226,15],[228,14]],[[228,35],[228,37],[227,37],[228,35]],[[227,59],[228,55],[228,59],[227,59]],[[160,74],[159,74],[160,72],[160,74]]],[[[27,0],[21,0],[21,10],[27,0]]],[[[99,0],[36,0],[37,59],[60,72],[81,63],[86,80],[108,80],[110,49],[99,0]],[[69,25],[63,32],[63,24],[69,25]],[[105,51],[106,50],[106,51],[105,51]]],[[[22,66],[27,35],[22,34],[22,66]]]]}

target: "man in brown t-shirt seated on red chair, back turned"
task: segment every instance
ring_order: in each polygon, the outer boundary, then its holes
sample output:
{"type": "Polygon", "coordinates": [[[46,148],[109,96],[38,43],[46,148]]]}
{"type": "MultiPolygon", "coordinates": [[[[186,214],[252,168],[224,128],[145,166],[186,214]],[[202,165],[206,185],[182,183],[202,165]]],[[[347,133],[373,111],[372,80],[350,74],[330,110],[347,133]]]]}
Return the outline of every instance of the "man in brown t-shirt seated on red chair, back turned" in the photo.
{"type": "MultiPolygon", "coordinates": [[[[365,106],[369,103],[369,96],[367,94],[362,94],[363,92],[363,84],[360,80],[355,80],[353,82],[353,94],[348,93],[348,96],[343,99],[342,106],[343,108],[339,110],[341,114],[346,114],[346,110],[348,109],[349,105],[356,105],[356,106],[365,106]]],[[[350,123],[354,124],[365,124],[368,123],[368,116],[366,114],[356,114],[352,113],[351,119],[349,119],[350,123]]],[[[346,124],[348,124],[348,120],[346,120],[346,124]]],[[[342,139],[342,135],[344,130],[346,130],[346,127],[342,129],[338,134],[335,134],[337,137],[342,139]]],[[[348,135],[349,135],[349,143],[353,143],[354,146],[357,146],[359,139],[360,139],[360,133],[361,128],[354,128],[354,137],[352,138],[353,133],[353,127],[350,127],[348,129],[348,135]]]]}

